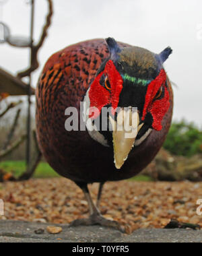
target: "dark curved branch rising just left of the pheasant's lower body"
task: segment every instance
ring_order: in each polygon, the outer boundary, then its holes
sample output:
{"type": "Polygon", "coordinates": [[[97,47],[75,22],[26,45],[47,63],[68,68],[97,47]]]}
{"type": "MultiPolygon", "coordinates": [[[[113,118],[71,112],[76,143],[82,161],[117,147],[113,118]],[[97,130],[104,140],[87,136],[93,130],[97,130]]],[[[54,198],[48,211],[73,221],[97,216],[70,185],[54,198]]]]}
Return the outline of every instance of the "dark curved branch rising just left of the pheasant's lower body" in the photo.
{"type": "Polygon", "coordinates": [[[26,172],[24,172],[24,174],[22,174],[20,176],[18,181],[27,181],[28,179],[30,179],[32,177],[32,175],[34,174],[34,171],[36,170],[36,167],[38,166],[38,164],[42,158],[42,153],[40,152],[40,149],[38,148],[38,142],[36,139],[36,131],[33,131],[33,136],[34,136],[34,142],[35,142],[36,151],[37,151],[36,159],[34,160],[34,163],[32,164],[32,166],[30,168],[28,168],[28,170],[26,170],[26,172]]]}

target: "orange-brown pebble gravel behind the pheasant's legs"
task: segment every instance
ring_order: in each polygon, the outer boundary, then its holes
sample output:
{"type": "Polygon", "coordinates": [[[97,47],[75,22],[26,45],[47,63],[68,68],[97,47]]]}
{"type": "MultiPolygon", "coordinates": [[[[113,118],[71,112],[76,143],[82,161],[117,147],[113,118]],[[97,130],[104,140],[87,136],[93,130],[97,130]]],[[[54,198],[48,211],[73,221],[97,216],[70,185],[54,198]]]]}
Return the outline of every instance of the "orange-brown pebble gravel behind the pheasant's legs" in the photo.
{"type": "MultiPolygon", "coordinates": [[[[95,200],[98,184],[90,186],[95,200]]],[[[202,183],[134,182],[106,183],[100,210],[105,218],[116,220],[130,234],[139,228],[164,228],[170,219],[199,224],[197,200],[202,183]]],[[[88,217],[88,203],[79,187],[63,179],[33,179],[0,184],[5,215],[0,220],[69,224],[88,217]]]]}

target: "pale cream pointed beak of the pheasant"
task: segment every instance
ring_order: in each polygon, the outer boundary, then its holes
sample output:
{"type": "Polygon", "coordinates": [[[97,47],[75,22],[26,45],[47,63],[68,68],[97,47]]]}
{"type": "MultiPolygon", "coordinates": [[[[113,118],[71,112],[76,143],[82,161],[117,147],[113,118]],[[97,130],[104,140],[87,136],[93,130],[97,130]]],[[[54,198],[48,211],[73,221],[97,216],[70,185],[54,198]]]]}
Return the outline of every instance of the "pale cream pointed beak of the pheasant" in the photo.
{"type": "Polygon", "coordinates": [[[117,169],[121,169],[143,124],[139,125],[139,113],[133,113],[132,108],[123,108],[117,116],[117,122],[110,117],[110,123],[113,131],[114,164],[117,169]]]}

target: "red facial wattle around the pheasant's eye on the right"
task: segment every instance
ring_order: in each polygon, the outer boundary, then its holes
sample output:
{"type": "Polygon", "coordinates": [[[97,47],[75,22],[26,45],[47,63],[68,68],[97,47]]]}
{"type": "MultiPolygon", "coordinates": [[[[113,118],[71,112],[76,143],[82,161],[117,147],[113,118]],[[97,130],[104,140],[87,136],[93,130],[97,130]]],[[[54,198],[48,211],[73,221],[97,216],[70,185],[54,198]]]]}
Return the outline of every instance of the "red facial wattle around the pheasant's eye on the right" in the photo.
{"type": "Polygon", "coordinates": [[[158,77],[148,85],[142,121],[145,120],[145,116],[148,112],[151,113],[153,117],[152,127],[156,131],[160,131],[162,129],[162,119],[170,108],[169,98],[169,92],[166,87],[166,72],[162,69],[158,77]],[[154,101],[161,86],[164,86],[164,97],[154,101]]]}

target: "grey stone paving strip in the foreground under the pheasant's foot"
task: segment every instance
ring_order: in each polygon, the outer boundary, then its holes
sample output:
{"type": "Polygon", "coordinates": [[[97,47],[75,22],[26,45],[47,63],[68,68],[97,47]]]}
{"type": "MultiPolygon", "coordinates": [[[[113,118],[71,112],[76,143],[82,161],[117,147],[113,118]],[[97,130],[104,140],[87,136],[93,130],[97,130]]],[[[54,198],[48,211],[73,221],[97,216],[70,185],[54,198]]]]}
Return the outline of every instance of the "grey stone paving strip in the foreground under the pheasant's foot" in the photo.
{"type": "Polygon", "coordinates": [[[57,225],[63,231],[48,234],[47,226],[48,224],[1,220],[0,243],[202,243],[202,230],[140,229],[127,235],[100,226],[69,228],[67,225],[57,225]],[[35,234],[35,230],[39,228],[44,230],[44,234],[35,234]]]}

